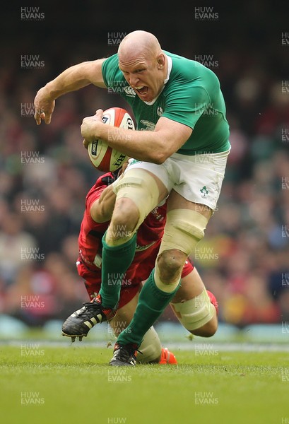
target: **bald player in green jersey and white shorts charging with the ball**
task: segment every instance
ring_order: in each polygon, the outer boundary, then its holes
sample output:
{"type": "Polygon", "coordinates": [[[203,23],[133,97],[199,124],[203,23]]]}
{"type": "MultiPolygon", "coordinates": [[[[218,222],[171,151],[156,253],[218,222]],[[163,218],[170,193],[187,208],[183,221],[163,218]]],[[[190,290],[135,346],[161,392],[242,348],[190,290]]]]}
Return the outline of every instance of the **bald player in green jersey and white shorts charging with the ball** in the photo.
{"type": "MultiPolygon", "coordinates": [[[[112,57],[71,66],[41,88],[35,97],[37,124],[42,119],[49,124],[55,99],[90,83],[121,88],[117,92],[129,103],[137,122],[136,131],[114,128],[112,136],[111,127],[101,120],[103,111],[98,110],[81,125],[85,146],[103,139],[135,159],[113,184],[115,206],[102,239],[102,285],[88,317],[90,325],[117,309],[122,276],[134,258],[136,231],[148,213],[167,199],[167,222],[155,269],[110,361],[110,365],[135,365],[143,335],[177,292],[184,262],[194,254],[216,209],[230,152],[229,125],[216,74],[197,61],[163,50],[153,34],[141,30],[126,35],[112,57]],[[119,283],[110,285],[112,275],[119,283]]],[[[205,319],[211,307],[205,292],[191,299],[194,311],[179,309],[184,326],[205,319]]],[[[83,324],[81,317],[72,314],[75,331],[78,324],[83,324]]]]}

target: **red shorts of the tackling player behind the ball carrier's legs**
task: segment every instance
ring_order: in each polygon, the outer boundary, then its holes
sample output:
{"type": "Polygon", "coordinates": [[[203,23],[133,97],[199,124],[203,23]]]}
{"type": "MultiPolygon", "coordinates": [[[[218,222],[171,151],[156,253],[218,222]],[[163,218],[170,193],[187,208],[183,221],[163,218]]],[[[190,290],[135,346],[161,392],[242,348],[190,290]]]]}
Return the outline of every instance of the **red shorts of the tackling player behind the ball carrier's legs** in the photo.
{"type": "MultiPolygon", "coordinates": [[[[126,271],[126,275],[124,277],[125,283],[122,283],[122,290],[120,290],[118,309],[129,303],[136,293],[141,290],[141,282],[148,278],[155,266],[158,249],[158,244],[146,249],[146,259],[144,259],[144,255],[142,255],[142,261],[133,261],[129,269],[126,271]]],[[[191,271],[193,271],[193,269],[194,266],[189,261],[186,261],[182,271],[182,278],[187,276],[191,271]]],[[[95,271],[90,270],[85,264],[83,264],[82,259],[78,258],[77,271],[78,275],[85,280],[85,288],[90,299],[95,298],[100,291],[101,269],[95,269],[95,271]]]]}

